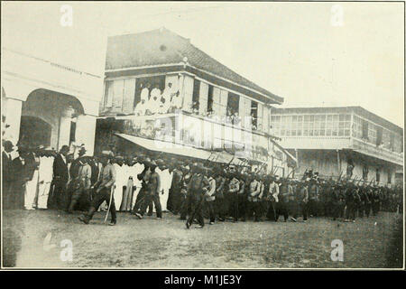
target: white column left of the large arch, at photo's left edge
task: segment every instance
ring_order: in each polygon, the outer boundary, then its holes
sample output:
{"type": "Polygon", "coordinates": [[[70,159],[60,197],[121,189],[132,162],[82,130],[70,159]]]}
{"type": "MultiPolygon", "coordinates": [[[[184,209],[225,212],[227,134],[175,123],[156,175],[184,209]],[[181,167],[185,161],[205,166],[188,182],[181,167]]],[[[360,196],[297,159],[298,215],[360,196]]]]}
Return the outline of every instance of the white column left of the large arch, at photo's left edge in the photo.
{"type": "Polygon", "coordinates": [[[23,101],[14,98],[7,98],[7,109],[4,111],[5,124],[8,127],[5,129],[4,138],[17,144],[20,137],[21,113],[23,101]]]}

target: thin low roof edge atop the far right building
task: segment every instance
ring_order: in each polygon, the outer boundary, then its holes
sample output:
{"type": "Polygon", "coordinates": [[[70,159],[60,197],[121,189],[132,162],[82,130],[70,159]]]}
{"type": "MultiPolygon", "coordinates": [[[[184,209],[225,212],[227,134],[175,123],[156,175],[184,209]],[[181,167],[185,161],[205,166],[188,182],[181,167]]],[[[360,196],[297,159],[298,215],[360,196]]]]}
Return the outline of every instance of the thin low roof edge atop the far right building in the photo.
{"type": "Polygon", "coordinates": [[[271,114],[291,114],[291,113],[304,113],[304,114],[322,114],[322,113],[349,113],[354,112],[360,117],[370,119],[379,126],[383,126],[393,132],[403,135],[403,128],[390,122],[389,120],[379,117],[374,113],[366,110],[363,107],[286,107],[276,108],[272,107],[271,114]]]}

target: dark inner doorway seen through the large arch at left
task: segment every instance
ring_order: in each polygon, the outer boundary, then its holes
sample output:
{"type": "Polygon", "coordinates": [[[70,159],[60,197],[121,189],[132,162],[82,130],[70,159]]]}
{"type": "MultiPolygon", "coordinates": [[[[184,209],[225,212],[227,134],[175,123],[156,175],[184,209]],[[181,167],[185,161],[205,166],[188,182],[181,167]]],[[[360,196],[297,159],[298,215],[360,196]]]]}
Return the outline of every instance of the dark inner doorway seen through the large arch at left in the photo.
{"type": "Polygon", "coordinates": [[[51,125],[39,117],[21,117],[19,140],[29,147],[51,145],[51,125]]]}

